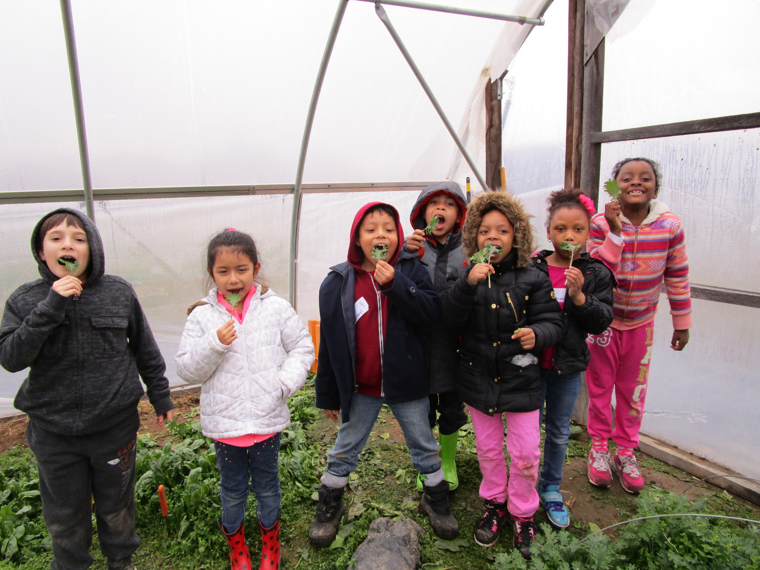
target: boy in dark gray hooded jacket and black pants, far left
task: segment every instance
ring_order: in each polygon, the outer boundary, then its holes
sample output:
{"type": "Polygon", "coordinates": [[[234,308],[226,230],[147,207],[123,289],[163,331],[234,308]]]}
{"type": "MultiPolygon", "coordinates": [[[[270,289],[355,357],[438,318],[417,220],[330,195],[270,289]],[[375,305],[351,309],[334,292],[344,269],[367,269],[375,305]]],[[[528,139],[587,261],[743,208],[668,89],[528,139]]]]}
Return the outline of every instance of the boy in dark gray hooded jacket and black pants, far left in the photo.
{"type": "Polygon", "coordinates": [[[29,416],[52,568],[92,564],[90,497],[109,570],[134,568],[140,377],[157,423],[171,420],[166,366],[131,285],[104,274],[103,243],[88,217],[52,211],[34,228],[32,254],[42,279],[5,302],[0,364],[29,368],[14,407],[29,416]]]}

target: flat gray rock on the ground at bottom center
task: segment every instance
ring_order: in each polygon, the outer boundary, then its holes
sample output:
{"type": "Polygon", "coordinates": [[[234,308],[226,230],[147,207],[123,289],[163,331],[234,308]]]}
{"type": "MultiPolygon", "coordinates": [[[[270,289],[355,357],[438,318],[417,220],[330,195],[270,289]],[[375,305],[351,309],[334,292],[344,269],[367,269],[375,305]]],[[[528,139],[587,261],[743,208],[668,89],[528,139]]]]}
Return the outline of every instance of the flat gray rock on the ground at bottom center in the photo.
{"type": "Polygon", "coordinates": [[[422,527],[410,518],[376,518],[353,553],[353,570],[416,570],[422,564],[422,527]]]}

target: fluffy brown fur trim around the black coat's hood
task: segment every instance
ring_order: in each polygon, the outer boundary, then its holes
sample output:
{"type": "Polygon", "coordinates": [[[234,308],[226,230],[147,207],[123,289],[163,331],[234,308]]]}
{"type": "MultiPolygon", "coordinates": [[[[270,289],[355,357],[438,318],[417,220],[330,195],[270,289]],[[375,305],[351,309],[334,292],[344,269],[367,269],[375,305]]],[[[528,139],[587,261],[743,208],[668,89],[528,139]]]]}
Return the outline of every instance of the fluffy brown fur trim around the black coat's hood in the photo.
{"type": "MultiPolygon", "coordinates": [[[[467,217],[462,228],[462,249],[470,258],[478,251],[477,230],[483,215],[498,210],[504,214],[515,227],[514,248],[518,250],[518,267],[524,268],[530,262],[530,255],[535,251],[533,227],[530,226],[530,214],[527,214],[518,198],[508,192],[483,192],[467,207],[467,217]]],[[[509,252],[507,252],[509,253],[509,252]]]]}

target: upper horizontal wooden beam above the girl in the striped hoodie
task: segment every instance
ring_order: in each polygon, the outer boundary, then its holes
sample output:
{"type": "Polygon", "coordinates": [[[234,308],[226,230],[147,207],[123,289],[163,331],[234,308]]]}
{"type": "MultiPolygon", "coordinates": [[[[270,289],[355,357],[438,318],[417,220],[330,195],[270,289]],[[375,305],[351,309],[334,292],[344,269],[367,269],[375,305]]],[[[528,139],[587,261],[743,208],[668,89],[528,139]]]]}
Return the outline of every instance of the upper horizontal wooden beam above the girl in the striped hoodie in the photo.
{"type": "Polygon", "coordinates": [[[704,132],[737,131],[742,128],[760,128],[760,112],[713,117],[712,119],[698,119],[696,121],[670,122],[665,125],[651,125],[649,127],[623,128],[619,131],[601,131],[601,128],[599,128],[598,131],[601,132],[591,132],[591,142],[636,141],[642,138],[676,137],[679,135],[698,135],[704,132]]]}

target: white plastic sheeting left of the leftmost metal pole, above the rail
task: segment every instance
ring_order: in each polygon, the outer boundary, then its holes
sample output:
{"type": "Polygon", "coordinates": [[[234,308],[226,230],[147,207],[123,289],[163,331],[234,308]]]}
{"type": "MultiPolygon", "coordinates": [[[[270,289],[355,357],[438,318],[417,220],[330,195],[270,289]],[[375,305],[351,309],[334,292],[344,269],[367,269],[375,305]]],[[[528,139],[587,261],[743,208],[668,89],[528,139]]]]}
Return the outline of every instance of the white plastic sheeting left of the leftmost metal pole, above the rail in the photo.
{"type": "Polygon", "coordinates": [[[0,2],[0,192],[81,188],[58,2],[0,2]]]}

